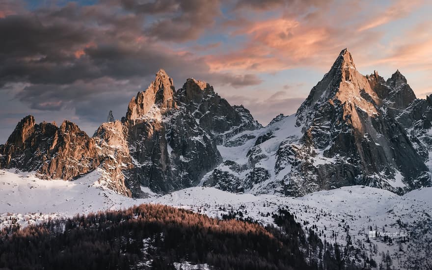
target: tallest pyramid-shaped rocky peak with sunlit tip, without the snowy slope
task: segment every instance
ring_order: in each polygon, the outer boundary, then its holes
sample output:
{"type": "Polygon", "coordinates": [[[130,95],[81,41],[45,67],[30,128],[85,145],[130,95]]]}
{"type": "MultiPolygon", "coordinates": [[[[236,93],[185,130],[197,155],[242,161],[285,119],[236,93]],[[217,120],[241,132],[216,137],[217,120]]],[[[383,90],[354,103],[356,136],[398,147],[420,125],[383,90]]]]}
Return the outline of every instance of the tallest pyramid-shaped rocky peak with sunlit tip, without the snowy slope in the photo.
{"type": "Polygon", "coordinates": [[[363,76],[343,50],[297,110],[296,125],[302,127],[300,141],[306,147],[294,151],[301,157],[315,148],[312,152],[323,151],[325,158],[343,159],[318,166],[305,159],[299,169],[316,170],[314,177],[320,180],[303,175],[298,181],[291,179],[298,186],[291,184],[289,189],[326,183],[324,188],[363,184],[402,192],[427,184],[428,168],[395,120],[399,109],[414,99],[399,71],[387,81],[378,72],[363,76]]]}

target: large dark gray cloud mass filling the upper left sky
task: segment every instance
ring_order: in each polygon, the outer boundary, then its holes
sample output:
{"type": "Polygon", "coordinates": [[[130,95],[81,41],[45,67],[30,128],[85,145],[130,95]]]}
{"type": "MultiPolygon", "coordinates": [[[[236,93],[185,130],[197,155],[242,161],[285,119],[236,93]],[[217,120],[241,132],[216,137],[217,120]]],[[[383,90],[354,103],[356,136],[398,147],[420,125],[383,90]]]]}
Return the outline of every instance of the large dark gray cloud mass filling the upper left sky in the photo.
{"type": "MultiPolygon", "coordinates": [[[[7,37],[0,42],[0,105],[22,107],[16,122],[32,113],[48,115],[40,121],[70,118],[97,127],[110,109],[121,118],[131,97],[160,68],[178,88],[189,77],[232,87],[261,83],[253,74],[211,72],[201,56],[161,41],[197,38],[219,14],[217,1],[107,0],[32,11],[21,1],[0,0],[0,5],[8,10],[0,14],[0,36],[7,37]],[[10,85],[13,91],[7,90],[10,85]]],[[[6,114],[0,111],[0,126],[12,131],[6,114]]]]}

